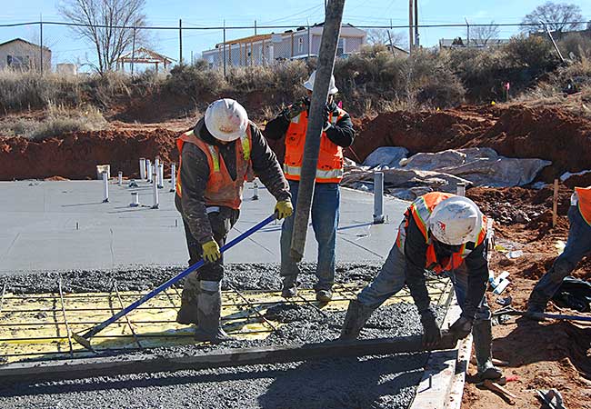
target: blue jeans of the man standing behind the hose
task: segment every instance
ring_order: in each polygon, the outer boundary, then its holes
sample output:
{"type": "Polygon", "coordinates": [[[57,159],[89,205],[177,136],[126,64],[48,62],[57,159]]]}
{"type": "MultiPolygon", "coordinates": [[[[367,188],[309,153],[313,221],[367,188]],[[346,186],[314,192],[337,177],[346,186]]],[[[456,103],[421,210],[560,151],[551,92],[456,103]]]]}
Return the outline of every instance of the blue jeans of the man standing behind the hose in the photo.
{"type": "MultiPolygon", "coordinates": [[[[288,181],[294,208],[297,207],[299,182],[288,181]]],[[[316,290],[329,290],[335,283],[335,247],[338,209],[340,203],[338,184],[316,184],[312,198],[312,228],[318,242],[316,290]]],[[[291,277],[299,274],[299,267],[291,258],[291,237],[294,230],[294,215],[287,217],[281,226],[281,275],[291,277]]]]}

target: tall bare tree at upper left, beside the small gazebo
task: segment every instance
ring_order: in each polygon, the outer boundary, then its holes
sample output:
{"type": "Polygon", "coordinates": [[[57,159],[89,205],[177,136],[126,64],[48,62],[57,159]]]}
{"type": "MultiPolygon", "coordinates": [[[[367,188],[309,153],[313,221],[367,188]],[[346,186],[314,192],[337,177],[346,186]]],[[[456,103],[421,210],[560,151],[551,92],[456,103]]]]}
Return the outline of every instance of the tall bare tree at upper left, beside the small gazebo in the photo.
{"type": "Polygon", "coordinates": [[[136,45],[141,43],[143,32],[129,27],[145,26],[144,6],[145,0],[65,0],[58,9],[95,46],[98,64],[93,66],[104,74],[130,49],[134,35],[136,45]]]}

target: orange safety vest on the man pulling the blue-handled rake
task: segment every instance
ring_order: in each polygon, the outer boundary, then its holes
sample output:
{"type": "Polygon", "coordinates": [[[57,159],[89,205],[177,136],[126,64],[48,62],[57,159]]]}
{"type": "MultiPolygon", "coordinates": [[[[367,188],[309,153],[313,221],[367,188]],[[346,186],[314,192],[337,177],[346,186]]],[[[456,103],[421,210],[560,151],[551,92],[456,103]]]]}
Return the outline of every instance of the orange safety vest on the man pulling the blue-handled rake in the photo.
{"type": "Polygon", "coordinates": [[[236,179],[228,173],[224,158],[219,155],[217,146],[206,144],[195,136],[193,131],[185,132],[176,139],[176,147],[179,153],[178,171],[176,173],[176,195],[183,196],[181,188],[181,167],[183,166],[183,145],[193,144],[203,151],[209,165],[209,178],[205,186],[205,205],[225,206],[239,209],[242,204],[242,191],[247,175],[252,172],[250,160],[250,147],[252,146],[250,125],[246,127],[246,133],[235,141],[236,151],[236,179]]]}

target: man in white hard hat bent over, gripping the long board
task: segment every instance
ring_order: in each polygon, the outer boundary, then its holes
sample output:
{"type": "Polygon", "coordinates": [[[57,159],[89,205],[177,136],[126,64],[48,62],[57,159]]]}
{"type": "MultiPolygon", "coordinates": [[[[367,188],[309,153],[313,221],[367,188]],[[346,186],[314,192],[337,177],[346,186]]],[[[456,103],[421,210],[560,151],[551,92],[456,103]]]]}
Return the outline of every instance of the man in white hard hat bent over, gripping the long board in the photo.
{"type": "Polygon", "coordinates": [[[432,192],[415,200],[398,228],[396,243],[374,281],[349,303],[341,339],[355,339],[374,310],[407,284],[424,329],[426,348],[441,340],[430,306],[426,272],[449,276],[462,314],[449,328],[456,339],[474,335],[481,379],[501,377],[492,363],[491,313],[486,304],[486,216],[470,199],[432,192]]]}

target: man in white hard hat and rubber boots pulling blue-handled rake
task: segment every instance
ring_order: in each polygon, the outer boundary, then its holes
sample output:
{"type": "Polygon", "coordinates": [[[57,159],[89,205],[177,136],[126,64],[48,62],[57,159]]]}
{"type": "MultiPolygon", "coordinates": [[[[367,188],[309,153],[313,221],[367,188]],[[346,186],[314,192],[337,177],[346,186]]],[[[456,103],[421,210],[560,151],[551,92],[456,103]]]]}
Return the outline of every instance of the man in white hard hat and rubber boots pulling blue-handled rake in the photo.
{"type": "Polygon", "coordinates": [[[185,278],[176,322],[197,324],[197,341],[222,342],[229,337],[220,325],[224,275],[220,247],[238,220],[245,179],[254,171],[275,196],[280,219],[293,213],[291,195],[261,131],[232,99],[209,105],[205,118],[181,135],[176,146],[180,158],[175,205],[183,215],[189,265],[206,261],[185,278]]]}

